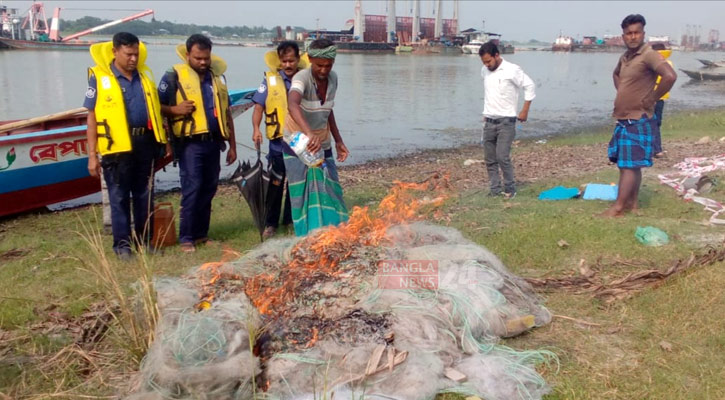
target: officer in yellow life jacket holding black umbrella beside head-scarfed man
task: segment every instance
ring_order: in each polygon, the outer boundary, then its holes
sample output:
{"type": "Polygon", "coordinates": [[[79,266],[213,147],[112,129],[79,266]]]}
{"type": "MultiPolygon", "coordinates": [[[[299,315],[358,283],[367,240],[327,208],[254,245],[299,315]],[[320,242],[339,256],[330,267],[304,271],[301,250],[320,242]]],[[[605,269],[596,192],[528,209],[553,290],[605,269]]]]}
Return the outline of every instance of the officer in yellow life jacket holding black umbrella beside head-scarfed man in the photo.
{"type": "MultiPolygon", "coordinates": [[[[254,113],[252,114],[252,140],[257,149],[262,145],[262,132],[259,124],[266,125],[266,136],[269,140],[269,153],[267,164],[270,171],[270,185],[267,189],[267,221],[262,237],[267,239],[274,236],[279,226],[279,214],[282,207],[282,194],[286,186],[286,171],[284,168],[284,153],[294,155],[294,152],[283,140],[284,119],[287,114],[287,92],[292,84],[292,77],[301,69],[309,66],[307,55],[300,57],[300,48],[293,41],[284,41],[264,56],[269,70],[264,74],[264,80],[252,101],[254,113]]],[[[292,223],[289,191],[285,195],[284,214],[282,225],[292,223]]]]}

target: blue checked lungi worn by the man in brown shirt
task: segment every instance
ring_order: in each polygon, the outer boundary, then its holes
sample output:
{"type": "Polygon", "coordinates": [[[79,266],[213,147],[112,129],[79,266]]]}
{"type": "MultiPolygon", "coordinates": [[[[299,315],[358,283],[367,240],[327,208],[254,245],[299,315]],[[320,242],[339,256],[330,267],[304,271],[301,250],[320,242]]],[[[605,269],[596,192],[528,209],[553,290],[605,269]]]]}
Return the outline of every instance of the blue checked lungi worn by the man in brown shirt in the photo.
{"type": "Polygon", "coordinates": [[[651,167],[653,140],[658,131],[657,121],[646,114],[638,120],[617,120],[607,148],[609,160],[619,168],[651,167]]]}

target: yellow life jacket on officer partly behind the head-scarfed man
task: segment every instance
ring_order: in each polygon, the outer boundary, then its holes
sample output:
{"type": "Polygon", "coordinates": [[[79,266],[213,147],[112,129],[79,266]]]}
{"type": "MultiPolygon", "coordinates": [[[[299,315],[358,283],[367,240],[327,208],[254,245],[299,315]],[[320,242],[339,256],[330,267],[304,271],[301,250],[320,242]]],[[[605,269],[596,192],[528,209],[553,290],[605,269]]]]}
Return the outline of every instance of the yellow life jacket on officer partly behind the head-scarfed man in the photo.
{"type": "MultiPolygon", "coordinates": [[[[281,138],[284,133],[284,120],[287,116],[287,87],[284,78],[279,72],[282,65],[276,50],[270,50],[264,55],[264,62],[269,71],[264,73],[267,82],[267,100],[264,103],[264,123],[267,126],[267,139],[281,138]]],[[[302,54],[297,63],[297,69],[310,66],[307,53],[302,54]]]]}

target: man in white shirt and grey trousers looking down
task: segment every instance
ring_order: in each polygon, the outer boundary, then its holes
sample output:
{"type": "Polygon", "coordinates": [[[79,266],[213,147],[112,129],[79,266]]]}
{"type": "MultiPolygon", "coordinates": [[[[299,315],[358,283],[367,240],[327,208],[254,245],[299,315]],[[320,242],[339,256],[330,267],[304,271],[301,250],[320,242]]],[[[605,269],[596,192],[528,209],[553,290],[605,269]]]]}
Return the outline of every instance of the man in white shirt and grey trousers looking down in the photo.
{"type": "Polygon", "coordinates": [[[529,116],[531,101],[536,97],[535,84],[521,67],[501,58],[495,43],[484,43],[478,55],[483,62],[483,149],[491,186],[489,196],[501,194],[500,167],[504,196],[512,198],[516,195],[516,185],[511,144],[516,135],[516,120],[524,122],[529,116]],[[521,89],[524,90],[524,106],[517,113],[521,89]]]}

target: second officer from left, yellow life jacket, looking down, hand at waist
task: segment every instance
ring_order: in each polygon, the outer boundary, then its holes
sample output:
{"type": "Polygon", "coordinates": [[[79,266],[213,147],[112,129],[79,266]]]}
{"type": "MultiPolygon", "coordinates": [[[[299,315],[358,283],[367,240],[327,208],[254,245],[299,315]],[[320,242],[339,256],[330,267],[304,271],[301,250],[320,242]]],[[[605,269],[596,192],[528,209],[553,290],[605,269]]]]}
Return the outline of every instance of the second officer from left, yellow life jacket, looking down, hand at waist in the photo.
{"type": "Polygon", "coordinates": [[[161,110],[169,118],[179,157],[181,212],[179,243],[184,252],[209,240],[211,202],[219,183],[220,153],[229,142],[227,165],[237,159],[234,121],[224,72],[208,37],[191,35],[176,52],[184,62],[159,83],[161,110]]]}

